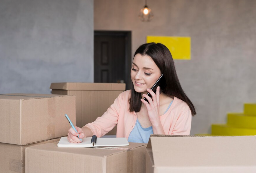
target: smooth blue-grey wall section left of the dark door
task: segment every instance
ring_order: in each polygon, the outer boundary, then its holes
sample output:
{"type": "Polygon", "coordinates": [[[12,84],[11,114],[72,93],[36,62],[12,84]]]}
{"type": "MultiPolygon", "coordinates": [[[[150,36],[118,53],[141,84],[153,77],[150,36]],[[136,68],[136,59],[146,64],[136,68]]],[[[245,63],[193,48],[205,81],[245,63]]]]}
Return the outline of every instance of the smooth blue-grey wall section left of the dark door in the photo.
{"type": "Polygon", "coordinates": [[[94,81],[93,0],[0,0],[0,94],[94,81]]]}

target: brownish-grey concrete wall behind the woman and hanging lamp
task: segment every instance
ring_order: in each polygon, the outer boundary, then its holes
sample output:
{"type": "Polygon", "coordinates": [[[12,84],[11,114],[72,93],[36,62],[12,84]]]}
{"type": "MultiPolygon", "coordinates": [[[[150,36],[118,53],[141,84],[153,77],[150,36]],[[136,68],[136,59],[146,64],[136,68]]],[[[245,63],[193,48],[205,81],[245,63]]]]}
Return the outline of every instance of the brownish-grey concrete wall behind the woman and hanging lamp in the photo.
{"type": "Polygon", "coordinates": [[[256,102],[256,1],[148,0],[154,18],[139,20],[144,1],[95,0],[95,30],[132,31],[132,53],[147,35],[190,36],[191,60],[175,60],[197,108],[191,135],[226,123],[227,112],[256,102]]]}

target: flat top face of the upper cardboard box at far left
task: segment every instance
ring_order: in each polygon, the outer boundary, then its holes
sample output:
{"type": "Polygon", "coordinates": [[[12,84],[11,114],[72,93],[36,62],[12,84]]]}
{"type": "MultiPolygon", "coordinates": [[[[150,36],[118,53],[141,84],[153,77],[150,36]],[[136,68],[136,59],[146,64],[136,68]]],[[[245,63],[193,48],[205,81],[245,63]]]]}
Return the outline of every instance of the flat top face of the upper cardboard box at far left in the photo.
{"type": "Polygon", "coordinates": [[[26,100],[26,99],[40,99],[40,98],[63,97],[63,96],[65,95],[12,93],[12,94],[0,94],[0,99],[26,100]]]}

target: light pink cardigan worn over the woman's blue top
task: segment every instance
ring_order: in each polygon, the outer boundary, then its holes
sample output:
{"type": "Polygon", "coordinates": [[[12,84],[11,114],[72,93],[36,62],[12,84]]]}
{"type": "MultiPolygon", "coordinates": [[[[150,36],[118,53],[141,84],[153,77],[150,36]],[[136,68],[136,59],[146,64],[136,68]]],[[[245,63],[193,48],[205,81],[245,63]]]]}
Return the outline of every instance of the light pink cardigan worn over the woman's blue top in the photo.
{"type": "MultiPolygon", "coordinates": [[[[107,111],[94,122],[85,126],[90,128],[94,135],[102,137],[117,124],[116,137],[128,139],[137,121],[136,113],[129,111],[131,90],[121,93],[107,111]]],[[[160,120],[167,135],[189,135],[191,128],[191,111],[186,102],[174,97],[171,107],[160,116],[160,120]]]]}

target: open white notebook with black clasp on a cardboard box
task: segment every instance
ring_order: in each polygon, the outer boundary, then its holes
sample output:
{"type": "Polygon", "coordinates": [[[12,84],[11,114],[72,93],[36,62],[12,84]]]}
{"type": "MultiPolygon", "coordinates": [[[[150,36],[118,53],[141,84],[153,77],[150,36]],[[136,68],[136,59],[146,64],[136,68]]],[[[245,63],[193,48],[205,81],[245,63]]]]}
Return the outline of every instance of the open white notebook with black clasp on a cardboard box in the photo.
{"type": "Polygon", "coordinates": [[[82,139],[83,143],[70,143],[67,137],[61,137],[58,147],[116,147],[127,146],[126,138],[97,138],[95,135],[82,139]]]}

